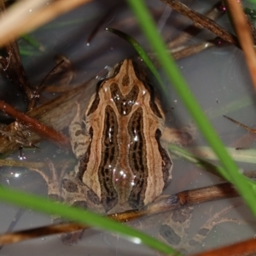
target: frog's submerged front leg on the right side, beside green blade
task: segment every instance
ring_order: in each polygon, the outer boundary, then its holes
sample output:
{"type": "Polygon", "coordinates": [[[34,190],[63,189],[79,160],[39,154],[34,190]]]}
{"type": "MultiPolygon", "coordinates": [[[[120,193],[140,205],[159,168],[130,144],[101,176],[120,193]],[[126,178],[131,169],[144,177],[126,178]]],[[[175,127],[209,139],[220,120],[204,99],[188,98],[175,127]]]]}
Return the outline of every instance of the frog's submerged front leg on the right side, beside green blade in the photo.
{"type": "Polygon", "coordinates": [[[195,127],[192,125],[186,126],[183,129],[166,127],[162,133],[161,140],[178,146],[187,146],[195,140],[195,127]]]}

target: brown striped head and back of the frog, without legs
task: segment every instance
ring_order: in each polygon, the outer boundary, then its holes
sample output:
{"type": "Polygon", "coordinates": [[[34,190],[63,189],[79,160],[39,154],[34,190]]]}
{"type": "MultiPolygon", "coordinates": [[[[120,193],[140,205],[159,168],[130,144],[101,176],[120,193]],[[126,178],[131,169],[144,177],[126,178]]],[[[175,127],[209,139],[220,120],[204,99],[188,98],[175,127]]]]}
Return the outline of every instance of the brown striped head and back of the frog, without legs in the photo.
{"type": "Polygon", "coordinates": [[[172,170],[172,160],[160,145],[165,119],[153,91],[137,78],[131,60],[113,68],[110,76],[86,114],[91,141],[79,170],[106,212],[153,201],[169,183],[172,170]]]}

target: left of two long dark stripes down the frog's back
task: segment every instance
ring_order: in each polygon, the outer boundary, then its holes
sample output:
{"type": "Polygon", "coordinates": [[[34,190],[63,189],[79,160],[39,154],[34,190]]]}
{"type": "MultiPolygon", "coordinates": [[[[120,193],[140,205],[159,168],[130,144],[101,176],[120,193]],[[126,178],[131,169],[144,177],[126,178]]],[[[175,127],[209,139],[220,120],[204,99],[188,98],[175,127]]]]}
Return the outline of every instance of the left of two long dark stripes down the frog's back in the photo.
{"type": "Polygon", "coordinates": [[[106,212],[118,203],[118,194],[113,187],[113,169],[116,167],[118,148],[118,122],[113,108],[105,109],[104,129],[102,131],[102,156],[98,168],[99,183],[102,191],[102,205],[106,212]],[[110,166],[110,167],[109,167],[110,166]]]}

